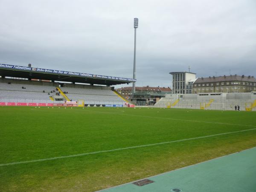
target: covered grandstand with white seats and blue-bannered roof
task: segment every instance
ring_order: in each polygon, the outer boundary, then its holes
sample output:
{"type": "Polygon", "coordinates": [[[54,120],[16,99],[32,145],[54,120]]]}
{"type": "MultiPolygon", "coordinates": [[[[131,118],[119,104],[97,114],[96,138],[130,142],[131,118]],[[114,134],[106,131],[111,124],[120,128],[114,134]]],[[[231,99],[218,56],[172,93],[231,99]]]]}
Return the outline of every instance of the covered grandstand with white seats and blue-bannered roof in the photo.
{"type": "Polygon", "coordinates": [[[75,104],[70,106],[76,106],[76,103],[82,100],[85,106],[122,106],[126,100],[119,94],[116,94],[114,87],[110,87],[110,85],[134,81],[133,79],[126,78],[75,72],[65,73],[65,71],[4,64],[0,65],[0,75],[2,76],[0,79],[0,103],[2,105],[30,105],[31,103],[38,105],[40,103],[44,104],[44,106],[50,104],[60,104],[59,106],[61,106],[61,104],[65,104],[67,101],[72,101],[75,104]],[[44,73],[42,73],[42,70],[44,70],[44,73]],[[58,72],[61,75],[58,73],[52,74],[52,72],[58,72]],[[67,74],[72,75],[67,76],[67,74]],[[6,76],[29,78],[28,80],[10,79],[5,78],[6,76]],[[49,78],[52,81],[31,81],[34,78],[49,78]],[[72,83],[55,82],[61,79],[71,81],[72,83]],[[81,84],[85,81],[90,84],[81,84]],[[96,86],[94,84],[99,85],[96,86]],[[103,84],[103,86],[100,84],[103,84]]]}

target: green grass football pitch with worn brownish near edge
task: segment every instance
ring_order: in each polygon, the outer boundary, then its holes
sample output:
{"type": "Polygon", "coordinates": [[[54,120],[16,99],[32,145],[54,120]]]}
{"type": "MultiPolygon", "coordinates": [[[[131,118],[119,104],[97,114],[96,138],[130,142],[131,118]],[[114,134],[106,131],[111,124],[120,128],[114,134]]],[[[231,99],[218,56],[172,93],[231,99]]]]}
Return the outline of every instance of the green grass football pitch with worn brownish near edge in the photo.
{"type": "Polygon", "coordinates": [[[0,107],[0,191],[96,191],[255,146],[255,112],[0,107]]]}

